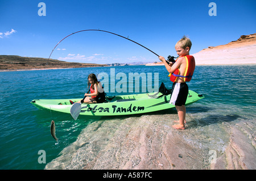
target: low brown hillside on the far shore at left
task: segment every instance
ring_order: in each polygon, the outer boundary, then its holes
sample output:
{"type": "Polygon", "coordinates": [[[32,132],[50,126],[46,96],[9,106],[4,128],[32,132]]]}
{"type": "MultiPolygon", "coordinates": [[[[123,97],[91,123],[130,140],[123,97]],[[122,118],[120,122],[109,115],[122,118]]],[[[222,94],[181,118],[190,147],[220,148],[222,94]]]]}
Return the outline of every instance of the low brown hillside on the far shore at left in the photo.
{"type": "Polygon", "coordinates": [[[57,68],[83,68],[91,66],[106,66],[101,64],[82,64],[65,62],[48,58],[20,57],[0,55],[0,71],[20,69],[57,69],[57,68]]]}

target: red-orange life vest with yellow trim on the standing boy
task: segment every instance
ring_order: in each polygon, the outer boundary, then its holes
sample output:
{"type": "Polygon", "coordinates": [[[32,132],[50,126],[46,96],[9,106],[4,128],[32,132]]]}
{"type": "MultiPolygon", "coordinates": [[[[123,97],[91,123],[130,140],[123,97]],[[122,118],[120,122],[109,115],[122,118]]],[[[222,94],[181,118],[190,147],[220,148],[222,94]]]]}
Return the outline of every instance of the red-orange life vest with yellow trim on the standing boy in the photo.
{"type": "Polygon", "coordinates": [[[193,56],[191,56],[191,55],[186,55],[186,56],[183,56],[183,57],[185,57],[186,62],[187,62],[187,66],[186,66],[186,69],[185,69],[185,74],[184,74],[184,76],[183,75],[179,75],[180,74],[180,69],[177,68],[173,73],[168,75],[172,82],[175,82],[177,77],[182,77],[184,82],[191,81],[191,78],[193,76],[193,73],[194,73],[194,70],[195,70],[195,66],[196,66],[195,58],[193,56]]]}

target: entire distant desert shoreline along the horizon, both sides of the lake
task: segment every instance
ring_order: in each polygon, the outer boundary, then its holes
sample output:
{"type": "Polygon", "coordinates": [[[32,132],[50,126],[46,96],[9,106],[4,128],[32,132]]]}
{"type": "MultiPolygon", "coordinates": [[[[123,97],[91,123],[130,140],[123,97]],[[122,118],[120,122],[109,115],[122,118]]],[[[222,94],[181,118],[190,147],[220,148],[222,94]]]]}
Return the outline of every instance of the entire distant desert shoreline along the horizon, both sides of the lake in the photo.
{"type": "MultiPolygon", "coordinates": [[[[238,40],[225,45],[208,47],[200,52],[191,54],[195,57],[196,65],[255,65],[256,64],[256,33],[242,35],[238,40]]],[[[145,66],[164,66],[163,62],[143,62],[145,66]]],[[[0,71],[26,71],[70,69],[85,67],[124,66],[127,64],[84,64],[65,62],[47,58],[20,57],[0,55],[0,71]]],[[[137,64],[136,64],[137,65],[137,64]]],[[[129,65],[131,66],[131,65],[129,65]]]]}

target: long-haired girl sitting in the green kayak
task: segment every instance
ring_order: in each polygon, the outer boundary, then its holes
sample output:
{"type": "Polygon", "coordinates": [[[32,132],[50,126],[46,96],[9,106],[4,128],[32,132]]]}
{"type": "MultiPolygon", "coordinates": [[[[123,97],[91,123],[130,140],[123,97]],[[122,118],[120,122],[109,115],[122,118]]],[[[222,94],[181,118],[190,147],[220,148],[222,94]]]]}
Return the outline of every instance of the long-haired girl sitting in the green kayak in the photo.
{"type": "MultiPolygon", "coordinates": [[[[101,82],[98,82],[98,79],[95,74],[88,75],[88,87],[90,87],[90,94],[85,93],[84,102],[86,104],[90,103],[104,103],[106,100],[104,89],[101,85],[101,82]]],[[[88,91],[89,92],[89,91],[88,91]]],[[[81,103],[82,100],[79,101],[81,103]]]]}

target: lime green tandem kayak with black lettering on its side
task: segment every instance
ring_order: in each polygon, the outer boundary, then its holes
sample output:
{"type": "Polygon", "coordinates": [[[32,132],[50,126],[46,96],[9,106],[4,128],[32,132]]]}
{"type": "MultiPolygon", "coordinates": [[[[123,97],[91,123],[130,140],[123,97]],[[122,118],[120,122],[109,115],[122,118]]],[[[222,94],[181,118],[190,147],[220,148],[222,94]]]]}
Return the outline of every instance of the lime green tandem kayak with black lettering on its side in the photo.
{"type": "MultiPolygon", "coordinates": [[[[165,94],[164,92],[152,92],[133,95],[106,96],[105,103],[81,104],[80,115],[117,116],[166,110],[175,107],[169,103],[170,98],[170,92],[168,94],[165,94]]],[[[203,95],[199,95],[197,92],[189,90],[185,105],[187,106],[203,98],[203,95]]],[[[34,99],[31,103],[39,109],[70,113],[72,104],[69,100],[78,102],[81,99],[82,98],[34,99]]]]}

